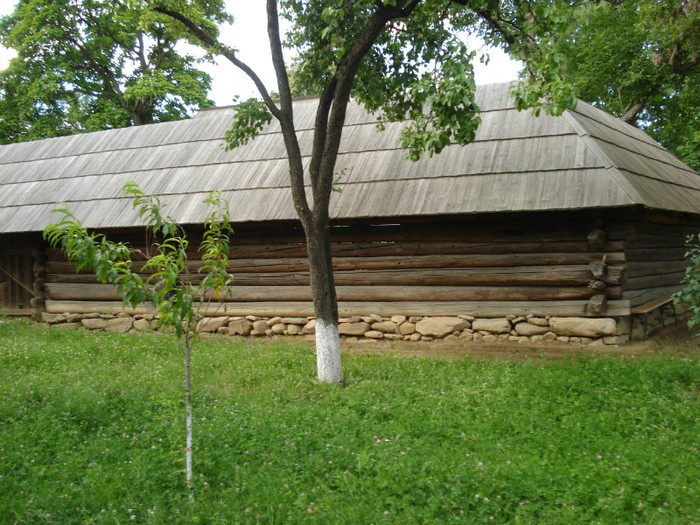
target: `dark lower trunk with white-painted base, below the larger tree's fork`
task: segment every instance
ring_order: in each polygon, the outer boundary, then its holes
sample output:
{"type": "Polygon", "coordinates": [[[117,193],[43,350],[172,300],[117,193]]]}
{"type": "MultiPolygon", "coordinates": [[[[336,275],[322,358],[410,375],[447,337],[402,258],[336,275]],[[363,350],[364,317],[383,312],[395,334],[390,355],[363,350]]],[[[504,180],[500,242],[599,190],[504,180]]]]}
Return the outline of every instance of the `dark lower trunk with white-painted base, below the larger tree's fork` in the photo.
{"type": "Polygon", "coordinates": [[[311,295],[316,316],[316,365],[318,380],[339,383],[343,380],[338,335],[338,300],[333,282],[331,236],[328,220],[315,220],[306,230],[311,295]]]}

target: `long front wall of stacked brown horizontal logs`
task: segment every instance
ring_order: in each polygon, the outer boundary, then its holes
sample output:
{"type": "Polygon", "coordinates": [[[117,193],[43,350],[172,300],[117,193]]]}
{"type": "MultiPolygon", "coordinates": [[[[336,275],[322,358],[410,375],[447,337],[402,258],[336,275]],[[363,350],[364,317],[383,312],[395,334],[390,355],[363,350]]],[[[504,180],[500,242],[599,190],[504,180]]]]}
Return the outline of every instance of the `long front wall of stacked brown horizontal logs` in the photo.
{"type": "MultiPolygon", "coordinates": [[[[336,225],[331,237],[341,315],[624,315],[625,243],[596,235],[599,222],[584,214],[531,214],[336,225]]],[[[138,244],[142,238],[122,232],[115,240],[138,244]]],[[[190,246],[196,245],[192,232],[190,246]]],[[[240,226],[230,257],[234,284],[222,300],[231,315],[313,314],[298,226],[240,226]]],[[[192,250],[194,279],[201,265],[192,250]]],[[[113,287],[76,274],[55,251],[47,268],[49,311],[75,311],[81,301],[115,306],[113,287]]]]}

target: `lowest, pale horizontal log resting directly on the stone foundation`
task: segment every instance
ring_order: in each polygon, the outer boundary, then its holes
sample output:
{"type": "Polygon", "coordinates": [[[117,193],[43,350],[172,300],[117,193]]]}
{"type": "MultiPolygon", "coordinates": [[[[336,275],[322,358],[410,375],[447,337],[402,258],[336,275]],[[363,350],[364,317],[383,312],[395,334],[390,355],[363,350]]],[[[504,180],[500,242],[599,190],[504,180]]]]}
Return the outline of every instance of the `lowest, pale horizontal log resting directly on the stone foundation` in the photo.
{"type": "MultiPolygon", "coordinates": [[[[473,315],[475,317],[504,317],[506,315],[536,316],[586,316],[586,301],[500,301],[500,302],[341,302],[338,312],[341,317],[368,315],[370,313],[385,317],[391,315],[417,316],[456,316],[473,315]]],[[[137,308],[124,308],[121,301],[46,301],[49,313],[73,312],[118,314],[152,314],[153,305],[144,304],[137,308]]],[[[261,302],[229,303],[224,310],[221,304],[204,305],[200,308],[202,315],[257,315],[260,317],[308,317],[313,316],[313,304],[306,302],[261,302]]],[[[629,300],[608,301],[607,316],[627,316],[630,314],[629,300]]]]}

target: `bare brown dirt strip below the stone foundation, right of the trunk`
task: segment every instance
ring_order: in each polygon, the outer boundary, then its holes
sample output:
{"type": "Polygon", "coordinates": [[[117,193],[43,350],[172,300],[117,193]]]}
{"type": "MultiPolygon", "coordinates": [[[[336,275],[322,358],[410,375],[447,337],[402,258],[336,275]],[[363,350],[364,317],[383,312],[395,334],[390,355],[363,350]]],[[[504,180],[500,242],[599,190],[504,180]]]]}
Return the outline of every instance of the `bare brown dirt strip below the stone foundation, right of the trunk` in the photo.
{"type": "Polygon", "coordinates": [[[477,359],[567,359],[571,357],[622,357],[648,359],[655,355],[678,355],[700,358],[700,338],[692,337],[685,323],[667,326],[655,332],[646,341],[634,341],[624,345],[578,346],[565,343],[521,345],[512,342],[475,343],[410,341],[358,341],[342,343],[349,354],[382,353],[416,357],[474,357],[477,359]]]}

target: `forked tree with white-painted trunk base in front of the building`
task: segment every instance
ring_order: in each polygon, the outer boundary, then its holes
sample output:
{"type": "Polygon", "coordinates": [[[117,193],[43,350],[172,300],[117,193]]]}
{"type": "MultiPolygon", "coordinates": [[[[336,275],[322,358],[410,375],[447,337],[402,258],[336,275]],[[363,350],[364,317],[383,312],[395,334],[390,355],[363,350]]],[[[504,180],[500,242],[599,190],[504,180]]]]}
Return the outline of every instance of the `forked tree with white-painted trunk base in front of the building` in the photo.
{"type": "Polygon", "coordinates": [[[177,0],[151,0],[158,13],[180,22],[193,42],[226,57],[256,84],[262,101],[239,106],[228,133],[244,144],[265,123],[279,122],[289,160],[292,198],[304,228],[316,315],[316,355],[322,382],[342,380],[338,306],[333,281],[329,201],[345,115],[351,97],[380,119],[411,124],[402,135],[409,156],[439,153],[450,143],[474,139],[479,123],[471,53],[460,32],[479,33],[526,60],[533,81],[518,92],[518,105],[542,104],[556,112],[573,102],[558,79],[552,56],[538,42],[562,21],[564,4],[505,0],[267,0],[268,37],[279,100],[236,50],[220,43],[202,13],[177,0]],[[281,8],[281,9],[280,9],[281,8]],[[313,145],[302,154],[284,61],[279,17],[291,23],[288,45],[298,53],[295,80],[320,93],[313,145]],[[541,96],[549,98],[541,101],[541,96]],[[552,100],[553,99],[553,100],[552,100]],[[310,158],[304,159],[303,155],[310,158]],[[311,199],[305,185],[310,186],[311,199]]]}

